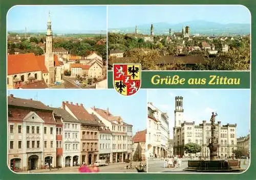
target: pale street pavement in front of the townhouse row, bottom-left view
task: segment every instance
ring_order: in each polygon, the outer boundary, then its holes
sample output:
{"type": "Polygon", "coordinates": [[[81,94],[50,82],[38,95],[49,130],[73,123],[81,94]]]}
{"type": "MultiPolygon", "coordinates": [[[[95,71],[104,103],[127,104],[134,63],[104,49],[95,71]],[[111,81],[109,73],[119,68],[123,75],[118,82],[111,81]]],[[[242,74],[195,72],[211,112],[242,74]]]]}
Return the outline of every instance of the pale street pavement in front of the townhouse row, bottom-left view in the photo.
{"type": "MultiPolygon", "coordinates": [[[[139,166],[140,162],[134,162],[133,166],[139,166]]],[[[99,167],[99,172],[137,172],[136,168],[133,169],[124,169],[126,166],[126,163],[115,163],[115,164],[110,164],[107,166],[100,166],[99,167]]],[[[77,173],[78,172],[79,166],[75,167],[63,167],[60,169],[41,169],[41,170],[32,170],[30,173],[77,173]]],[[[146,171],[146,168],[144,168],[146,171]]]]}

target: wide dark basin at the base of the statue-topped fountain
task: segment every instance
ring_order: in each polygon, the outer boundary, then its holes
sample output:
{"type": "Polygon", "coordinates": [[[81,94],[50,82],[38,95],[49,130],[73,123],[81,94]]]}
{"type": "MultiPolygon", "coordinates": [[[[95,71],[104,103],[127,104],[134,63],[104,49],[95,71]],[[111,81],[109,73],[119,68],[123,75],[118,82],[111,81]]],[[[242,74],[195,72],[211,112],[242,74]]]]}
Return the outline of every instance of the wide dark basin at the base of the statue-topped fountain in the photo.
{"type": "Polygon", "coordinates": [[[239,160],[189,160],[185,171],[197,172],[237,172],[243,171],[239,160]]]}

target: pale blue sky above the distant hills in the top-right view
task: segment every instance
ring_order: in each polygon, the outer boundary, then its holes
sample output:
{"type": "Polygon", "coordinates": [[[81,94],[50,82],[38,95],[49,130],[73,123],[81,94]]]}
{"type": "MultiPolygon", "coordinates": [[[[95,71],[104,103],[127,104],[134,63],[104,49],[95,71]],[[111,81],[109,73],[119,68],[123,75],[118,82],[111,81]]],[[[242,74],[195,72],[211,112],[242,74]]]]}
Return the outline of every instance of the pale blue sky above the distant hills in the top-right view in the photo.
{"type": "Polygon", "coordinates": [[[244,6],[109,6],[109,28],[134,27],[135,24],[167,22],[177,24],[192,20],[219,23],[250,23],[244,6]],[[125,18],[124,18],[125,17],[125,18]]]}

